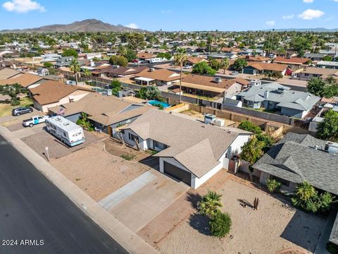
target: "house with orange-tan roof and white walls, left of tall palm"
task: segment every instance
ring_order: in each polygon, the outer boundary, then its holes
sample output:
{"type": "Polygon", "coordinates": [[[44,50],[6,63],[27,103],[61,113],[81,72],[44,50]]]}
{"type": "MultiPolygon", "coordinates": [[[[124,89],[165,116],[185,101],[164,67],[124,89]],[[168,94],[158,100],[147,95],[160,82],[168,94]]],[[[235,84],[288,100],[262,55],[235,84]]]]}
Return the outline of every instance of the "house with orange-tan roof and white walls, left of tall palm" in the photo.
{"type": "MultiPolygon", "coordinates": [[[[134,75],[135,83],[138,85],[171,85],[173,82],[180,80],[180,74],[167,69],[154,70],[149,68],[149,70],[144,70],[140,73],[134,75]]],[[[185,75],[183,74],[182,77],[185,75]]]]}

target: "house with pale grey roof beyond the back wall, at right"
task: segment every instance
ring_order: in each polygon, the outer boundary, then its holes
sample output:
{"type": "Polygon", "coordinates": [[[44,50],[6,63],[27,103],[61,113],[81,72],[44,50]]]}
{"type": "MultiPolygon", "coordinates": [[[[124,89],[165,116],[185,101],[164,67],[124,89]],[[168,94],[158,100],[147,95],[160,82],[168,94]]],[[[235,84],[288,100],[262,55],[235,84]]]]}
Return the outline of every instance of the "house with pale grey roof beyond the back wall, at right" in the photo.
{"type": "Polygon", "coordinates": [[[253,85],[237,94],[246,107],[280,111],[280,114],[303,119],[304,116],[320,101],[320,97],[309,92],[290,90],[279,83],[265,83],[253,85]]]}

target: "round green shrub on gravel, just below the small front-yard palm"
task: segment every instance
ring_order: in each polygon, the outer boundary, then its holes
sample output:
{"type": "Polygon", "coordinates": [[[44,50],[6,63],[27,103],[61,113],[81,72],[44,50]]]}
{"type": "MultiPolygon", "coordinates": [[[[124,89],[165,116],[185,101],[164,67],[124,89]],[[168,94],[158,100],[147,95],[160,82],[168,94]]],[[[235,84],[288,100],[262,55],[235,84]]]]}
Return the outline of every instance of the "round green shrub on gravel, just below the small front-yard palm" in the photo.
{"type": "Polygon", "coordinates": [[[218,212],[209,221],[210,231],[213,236],[224,237],[231,229],[230,215],[223,212],[218,212]]]}

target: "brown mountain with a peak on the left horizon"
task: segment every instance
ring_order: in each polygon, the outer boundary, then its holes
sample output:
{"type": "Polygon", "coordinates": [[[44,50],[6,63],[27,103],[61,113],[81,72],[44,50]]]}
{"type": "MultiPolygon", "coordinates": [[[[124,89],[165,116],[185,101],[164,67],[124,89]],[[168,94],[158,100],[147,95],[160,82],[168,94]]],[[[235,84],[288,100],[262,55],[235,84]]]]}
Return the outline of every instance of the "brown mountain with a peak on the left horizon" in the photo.
{"type": "Polygon", "coordinates": [[[142,31],[134,28],[127,28],[123,25],[111,25],[101,20],[87,19],[75,21],[68,25],[44,25],[39,28],[1,30],[0,32],[136,32],[142,31]]]}

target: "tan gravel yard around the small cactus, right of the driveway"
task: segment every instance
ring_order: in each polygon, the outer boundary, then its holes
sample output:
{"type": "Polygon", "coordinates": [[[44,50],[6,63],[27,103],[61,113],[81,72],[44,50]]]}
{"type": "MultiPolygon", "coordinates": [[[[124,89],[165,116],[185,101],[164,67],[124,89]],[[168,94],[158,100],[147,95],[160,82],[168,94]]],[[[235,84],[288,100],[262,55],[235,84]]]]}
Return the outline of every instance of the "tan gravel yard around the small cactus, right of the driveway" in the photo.
{"type": "Polygon", "coordinates": [[[287,208],[284,202],[233,179],[216,190],[223,194],[222,210],[232,218],[229,236],[223,239],[210,236],[207,219],[192,214],[158,243],[158,250],[161,253],[270,254],[296,248],[303,253],[313,252],[325,219],[287,208]],[[258,211],[241,205],[252,204],[254,198],[260,200],[258,211]]]}

